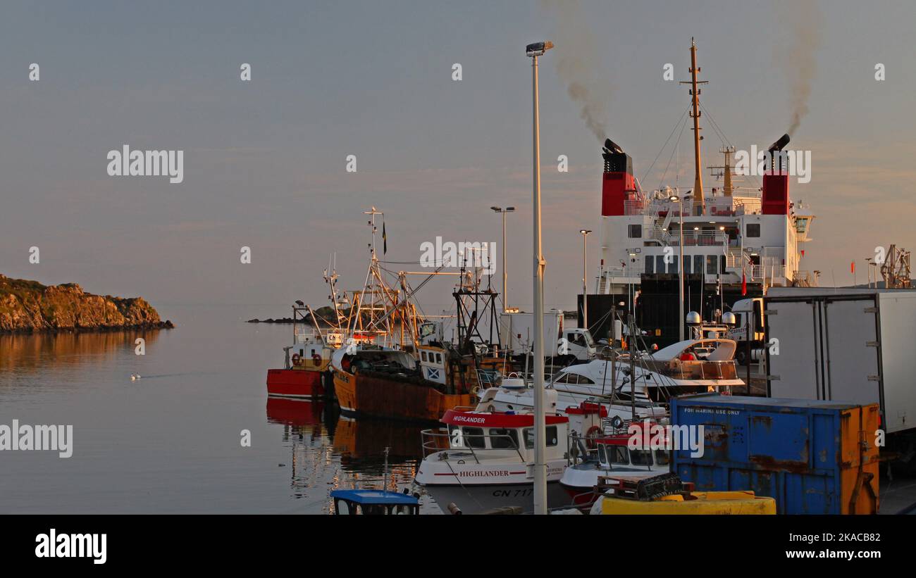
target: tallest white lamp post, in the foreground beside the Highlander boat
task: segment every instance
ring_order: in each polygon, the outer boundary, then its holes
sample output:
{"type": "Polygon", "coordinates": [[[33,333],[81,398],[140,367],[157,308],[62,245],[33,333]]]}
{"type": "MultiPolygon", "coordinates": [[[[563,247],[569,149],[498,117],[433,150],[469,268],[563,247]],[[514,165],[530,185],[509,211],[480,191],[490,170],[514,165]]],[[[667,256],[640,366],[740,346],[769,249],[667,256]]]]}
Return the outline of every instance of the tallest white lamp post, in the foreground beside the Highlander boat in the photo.
{"type": "Polygon", "coordinates": [[[538,57],[553,48],[550,41],[525,48],[531,59],[531,92],[534,141],[534,513],[547,513],[547,427],[544,412],[544,256],[540,246],[540,110],[538,102],[538,57]]]}

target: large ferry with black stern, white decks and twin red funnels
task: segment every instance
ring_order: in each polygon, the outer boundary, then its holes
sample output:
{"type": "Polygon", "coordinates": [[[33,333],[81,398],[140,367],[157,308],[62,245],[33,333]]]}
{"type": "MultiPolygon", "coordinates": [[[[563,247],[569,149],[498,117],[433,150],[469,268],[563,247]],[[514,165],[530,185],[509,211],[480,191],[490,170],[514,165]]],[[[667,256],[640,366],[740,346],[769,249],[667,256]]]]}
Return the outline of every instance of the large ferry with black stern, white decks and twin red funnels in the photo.
{"type": "MultiPolygon", "coordinates": [[[[622,305],[637,317],[649,341],[664,347],[682,338],[679,282],[684,284],[684,310],[697,311],[707,320],[743,294],[759,296],[770,286],[817,284],[817,272],[802,267],[802,247],[810,241],[814,215],[790,198],[789,171],[780,155],[789,135],[769,147],[772,162],[758,181],[758,171],[736,166],[736,147],[710,118],[722,141],[724,163],[709,167],[720,182],[704,184],[700,119],[709,114],[699,98],[705,82],[697,78],[696,45],[690,50],[690,113],[685,111],[679,121],[682,130],[671,156],[692,121],[693,187],[663,185],[666,168],[658,188],[646,189],[620,145],[607,139],[602,149],[601,262],[594,294],[587,295],[589,318],[601,320],[591,324],[596,337],[607,335],[608,312],[622,305]],[[745,180],[738,182],[739,177],[745,180]]],[[[756,168],[758,158],[750,163],[756,168]]]]}

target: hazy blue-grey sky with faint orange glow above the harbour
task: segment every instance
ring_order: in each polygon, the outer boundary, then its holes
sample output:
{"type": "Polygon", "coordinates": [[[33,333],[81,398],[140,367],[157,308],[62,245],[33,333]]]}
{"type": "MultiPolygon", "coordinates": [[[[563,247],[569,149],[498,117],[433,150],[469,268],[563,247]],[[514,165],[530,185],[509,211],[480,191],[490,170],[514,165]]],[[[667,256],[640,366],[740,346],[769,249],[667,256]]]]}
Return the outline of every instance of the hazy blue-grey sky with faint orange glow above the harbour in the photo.
{"type": "MultiPolygon", "coordinates": [[[[601,157],[557,69],[568,37],[561,23],[591,38],[583,62],[606,87],[593,97],[607,136],[652,189],[692,187],[693,178],[689,131],[664,182],[668,153],[647,174],[690,99],[663,79],[665,64],[674,80],[687,80],[695,37],[709,81],[703,108],[737,148],[767,146],[791,122],[793,57],[782,48],[807,16],[795,3],[555,4],[5,3],[0,273],[140,294],[166,310],[276,304],[279,316],[295,299],[325,305],[331,253],[341,288],[362,285],[370,241],[362,213],[372,206],[385,212],[385,259],[416,262],[421,243],[437,236],[501,243],[489,207],[514,205],[509,302],[529,305],[524,48],[552,39],[540,67],[546,302],[572,308],[578,230],[600,227],[601,157]],[[28,78],[31,63],[37,81],[28,78]],[[250,81],[240,79],[243,63],[250,81]],[[124,144],[183,150],[183,182],[110,177],[106,155],[124,144]],[[355,173],[345,170],[347,155],[357,159],[355,173]],[[557,171],[559,155],[569,172],[557,171]],[[38,264],[28,260],[32,246],[38,264]],[[240,262],[243,246],[250,264],[240,262]]],[[[802,267],[822,271],[823,284],[851,284],[854,259],[864,282],[864,259],[878,245],[916,248],[913,22],[908,2],[836,0],[802,23],[817,42],[809,112],[791,148],[812,151],[812,178],[793,180],[791,197],[817,215],[802,267]],[[885,80],[875,79],[877,63],[885,80]]],[[[709,122],[704,165],[718,165],[721,143],[709,122]]],[[[598,243],[589,242],[594,275],[598,243]]],[[[452,281],[428,285],[420,302],[449,303],[452,281]]]]}

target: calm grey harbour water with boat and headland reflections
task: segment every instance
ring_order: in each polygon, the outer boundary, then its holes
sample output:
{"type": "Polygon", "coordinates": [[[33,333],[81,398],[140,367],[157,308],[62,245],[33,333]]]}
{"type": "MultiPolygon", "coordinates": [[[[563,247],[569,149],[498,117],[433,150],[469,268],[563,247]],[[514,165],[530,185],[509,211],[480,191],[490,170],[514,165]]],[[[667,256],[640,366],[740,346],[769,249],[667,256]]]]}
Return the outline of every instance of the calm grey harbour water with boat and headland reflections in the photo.
{"type": "Polygon", "coordinates": [[[0,424],[73,426],[70,458],[0,452],[0,513],[328,513],[333,488],[382,487],[386,447],[387,487],[409,486],[419,427],[267,399],[292,326],[245,319],[285,307],[158,309],[177,328],[0,336],[0,424]]]}

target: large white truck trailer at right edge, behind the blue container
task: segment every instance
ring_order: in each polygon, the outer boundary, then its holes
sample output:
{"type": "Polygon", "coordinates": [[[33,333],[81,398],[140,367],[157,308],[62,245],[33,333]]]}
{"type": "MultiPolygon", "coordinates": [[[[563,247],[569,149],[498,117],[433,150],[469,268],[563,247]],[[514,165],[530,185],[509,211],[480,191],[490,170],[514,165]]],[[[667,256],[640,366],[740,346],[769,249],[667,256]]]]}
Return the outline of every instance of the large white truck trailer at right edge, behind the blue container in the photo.
{"type": "Polygon", "coordinates": [[[771,397],[878,403],[916,467],[916,291],[774,287],[764,316],[771,397]]]}

